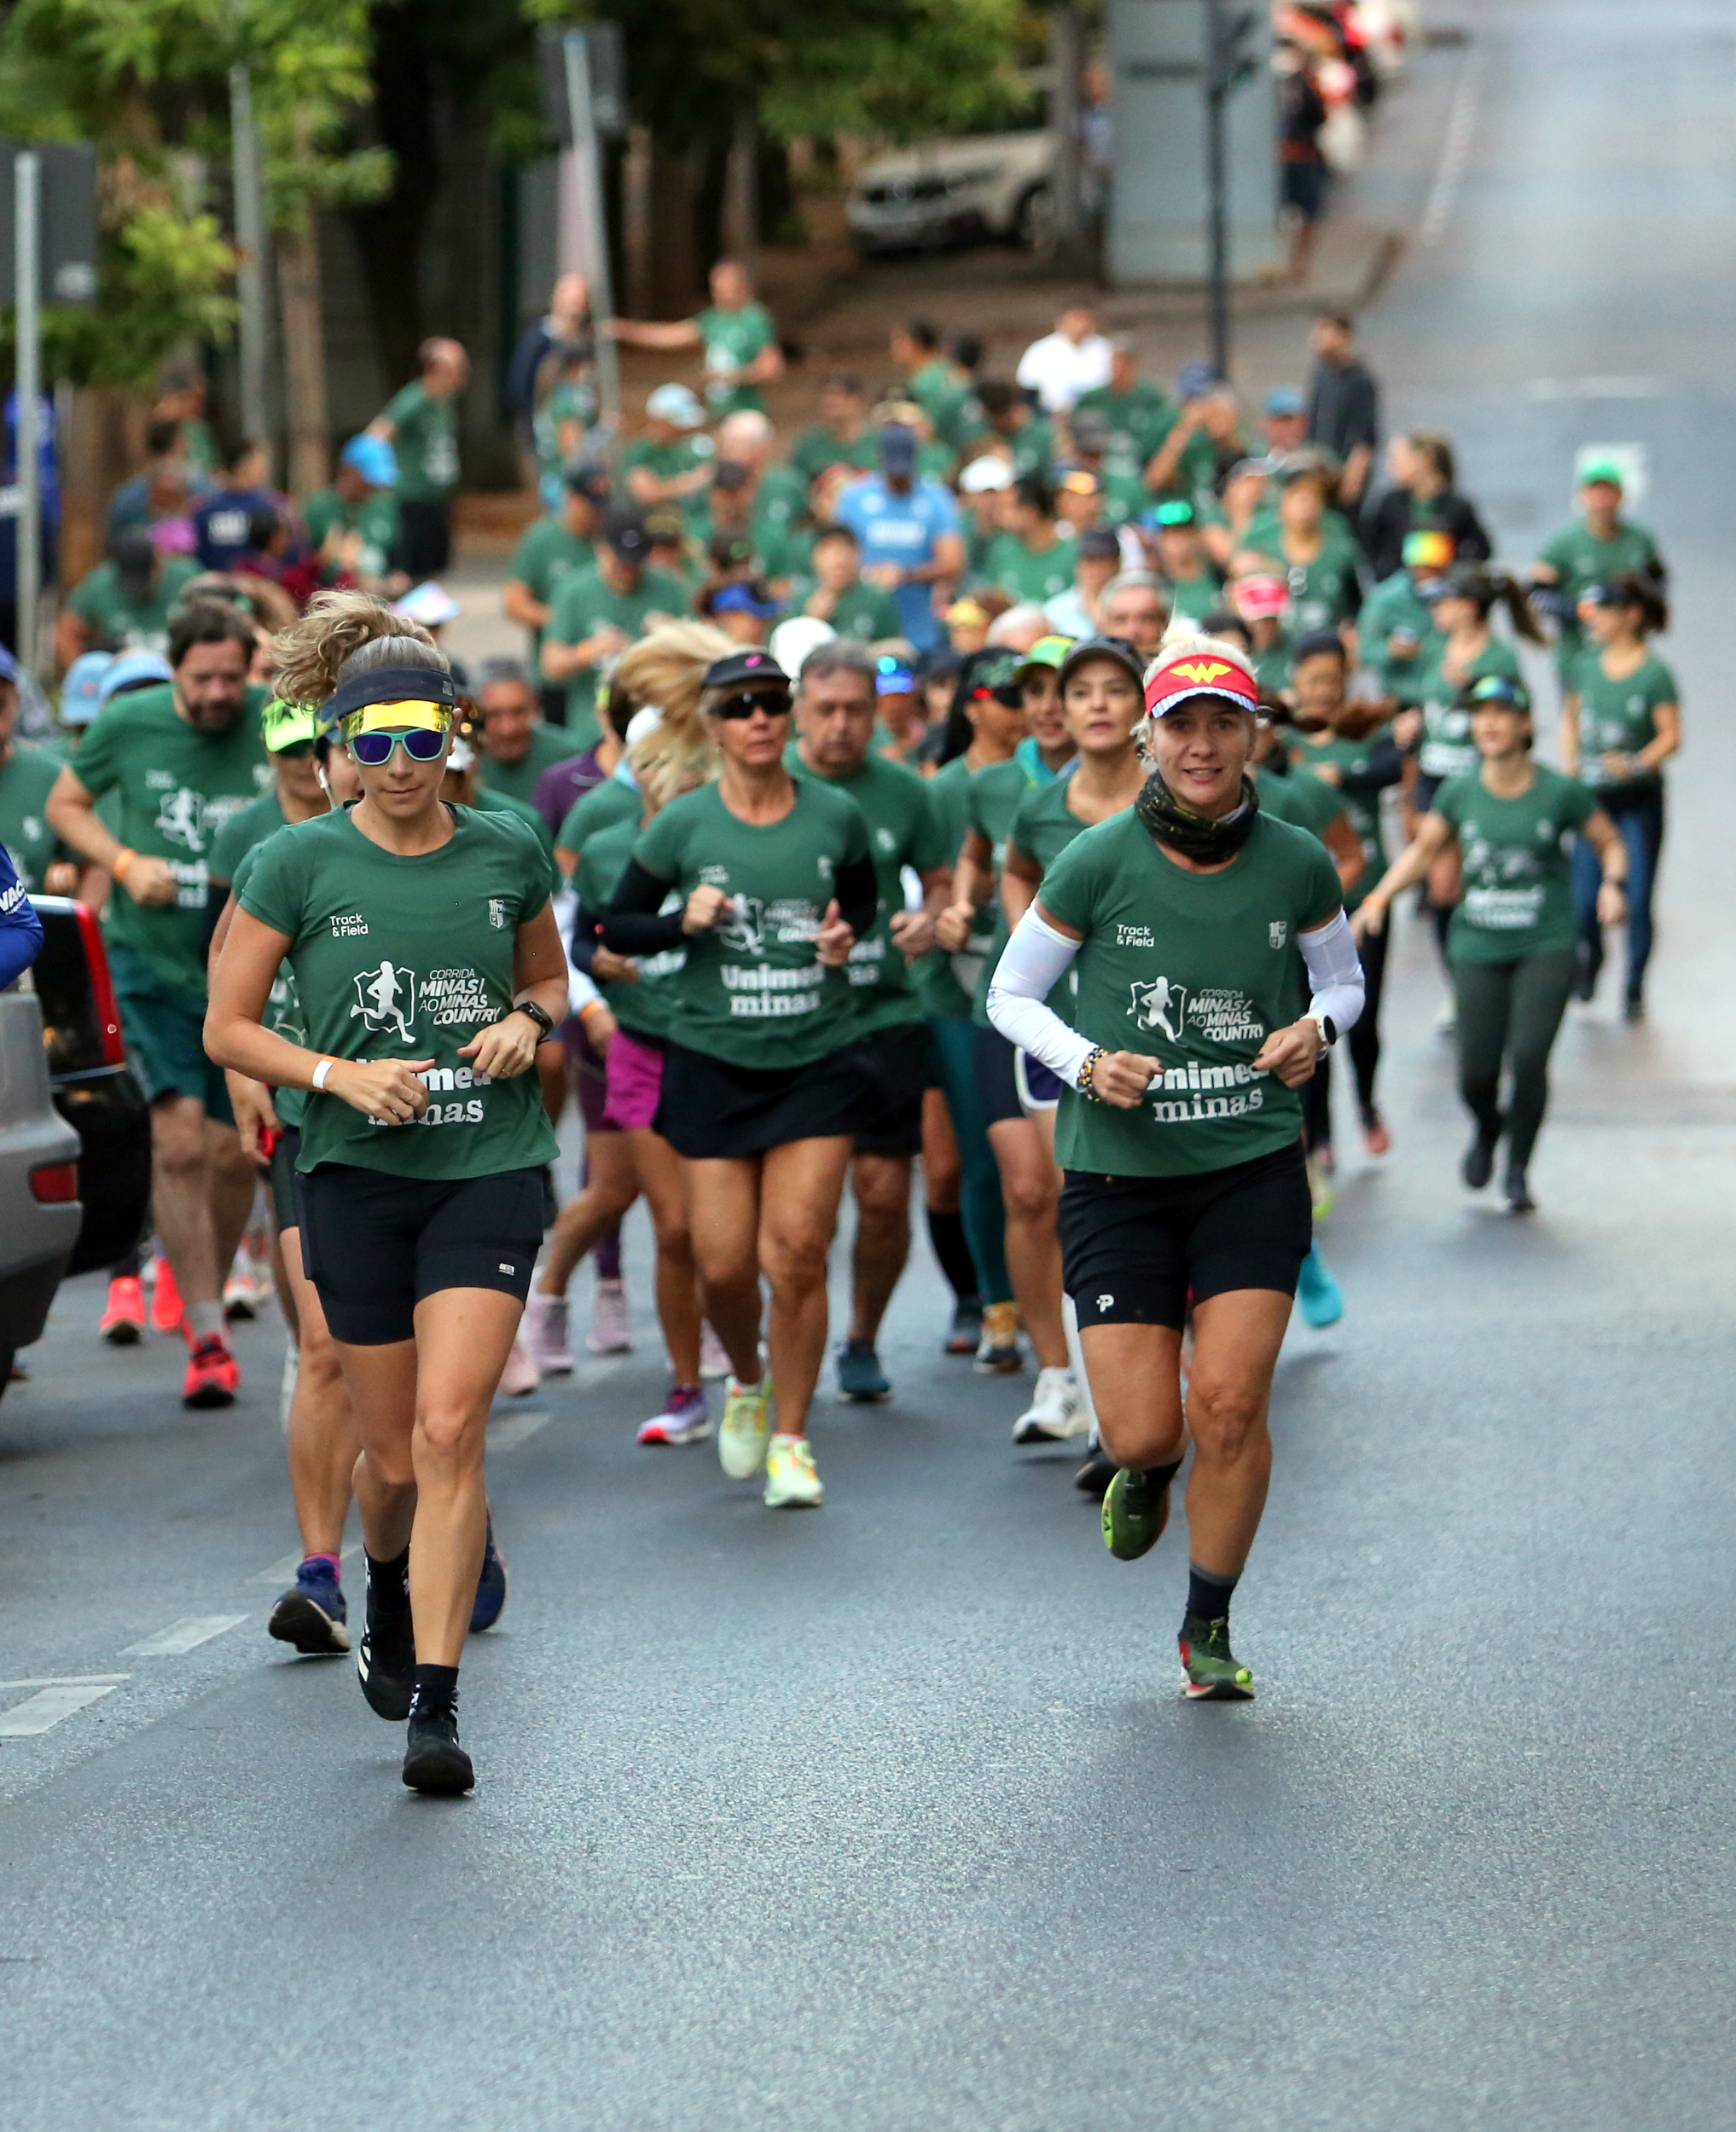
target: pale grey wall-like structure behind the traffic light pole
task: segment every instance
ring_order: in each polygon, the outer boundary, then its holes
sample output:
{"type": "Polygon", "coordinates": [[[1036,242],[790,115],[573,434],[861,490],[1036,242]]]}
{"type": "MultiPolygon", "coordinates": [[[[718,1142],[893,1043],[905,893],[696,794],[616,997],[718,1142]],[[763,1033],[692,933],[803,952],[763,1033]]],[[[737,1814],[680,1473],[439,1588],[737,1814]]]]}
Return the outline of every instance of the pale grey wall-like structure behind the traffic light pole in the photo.
{"type": "MultiPolygon", "coordinates": [[[[1277,258],[1277,154],[1271,30],[1260,0],[1254,79],[1228,102],[1231,273],[1277,258]]],[[[1118,286],[1205,279],[1205,0],[1109,0],[1115,177],[1107,271],[1118,286]]]]}

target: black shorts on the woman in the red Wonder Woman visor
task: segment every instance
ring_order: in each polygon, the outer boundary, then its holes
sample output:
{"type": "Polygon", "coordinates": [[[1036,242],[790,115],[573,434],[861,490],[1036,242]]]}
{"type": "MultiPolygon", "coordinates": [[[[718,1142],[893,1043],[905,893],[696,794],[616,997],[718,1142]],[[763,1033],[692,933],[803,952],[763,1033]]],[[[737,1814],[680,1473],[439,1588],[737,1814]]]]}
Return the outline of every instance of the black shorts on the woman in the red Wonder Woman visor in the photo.
{"type": "Polygon", "coordinates": [[[1062,1286],[1079,1328],[1186,1324],[1188,1303],[1235,1288],[1295,1296],[1314,1241],[1301,1141],[1196,1177],[1068,1170],[1060,1194],[1062,1286]]]}

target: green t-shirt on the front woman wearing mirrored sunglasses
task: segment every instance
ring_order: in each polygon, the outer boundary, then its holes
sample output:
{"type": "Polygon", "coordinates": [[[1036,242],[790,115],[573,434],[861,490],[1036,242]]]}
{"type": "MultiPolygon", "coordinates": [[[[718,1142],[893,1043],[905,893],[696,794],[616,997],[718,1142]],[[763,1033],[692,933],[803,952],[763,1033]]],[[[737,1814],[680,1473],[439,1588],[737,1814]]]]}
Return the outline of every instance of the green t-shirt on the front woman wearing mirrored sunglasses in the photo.
{"type": "Polygon", "coordinates": [[[554,891],[554,870],[505,814],[461,806],[452,825],[439,851],[414,859],[369,842],[345,808],[258,846],[241,908],[290,940],[309,1049],[433,1060],[414,1126],[375,1126],[309,1092],[296,1168],[454,1179],[554,1160],[535,1070],[491,1081],[459,1057],[510,1011],[514,938],[554,891]]]}

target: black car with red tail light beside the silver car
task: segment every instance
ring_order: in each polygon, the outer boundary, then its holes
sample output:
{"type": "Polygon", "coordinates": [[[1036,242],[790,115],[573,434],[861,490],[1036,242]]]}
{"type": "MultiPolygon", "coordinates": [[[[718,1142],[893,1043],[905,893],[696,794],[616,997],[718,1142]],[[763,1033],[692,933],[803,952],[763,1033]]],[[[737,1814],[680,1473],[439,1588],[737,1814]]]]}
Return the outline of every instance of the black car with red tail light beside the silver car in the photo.
{"type": "Polygon", "coordinates": [[[32,976],[53,1107],[79,1134],[85,1207],[68,1273],[113,1266],[151,1209],[151,1113],[126,1064],[122,1017],[96,912],[70,895],[32,895],[43,953],[32,976]]]}

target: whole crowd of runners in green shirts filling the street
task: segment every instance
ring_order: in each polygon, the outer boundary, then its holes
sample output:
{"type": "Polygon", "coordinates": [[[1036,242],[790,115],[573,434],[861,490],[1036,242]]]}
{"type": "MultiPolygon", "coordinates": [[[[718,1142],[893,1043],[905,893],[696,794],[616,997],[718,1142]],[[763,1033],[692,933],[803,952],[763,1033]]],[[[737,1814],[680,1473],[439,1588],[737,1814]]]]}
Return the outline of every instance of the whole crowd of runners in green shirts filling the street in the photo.
{"type": "MultiPolygon", "coordinates": [[[[894,1396],[919,1192],[936,1373],[1004,1377],[1015,1443],[1077,1441],[1118,1558],[1192,1445],[1184,1691],[1248,1697],[1280,1341],[1346,1307],[1314,1241],[1339,1045],[1393,1153],[1393,912],[1440,949],[1463,1181],[1499,1166],[1514,1215],[1612,938],[1644,1015],[1681,706],[1619,465],[1508,567],[1446,437],[1376,454],[1348,386],[1252,422],[1205,365],[1171,394],[1086,305],[1004,379],[915,320],[785,448],[770,326],[719,275],[693,322],[621,328],[704,348],[710,405],[663,384],[589,450],[557,365],[523,659],[441,648],[441,524],[392,497],[452,343],[345,446],[301,563],[198,574],[122,529],[36,742],[0,659],[0,925],[28,932],[15,883],[102,908],[151,1102],[154,1237],[100,1337],[183,1335],[188,1405],[228,1405],[226,1320],[275,1281],[305,1561],[269,1629],[350,1650],[354,1499],[363,1693],[427,1791],[473,1780],[459,1661],[505,1603],[491,1405],[574,1369],[586,1260],[589,1347],[631,1343],[638,1198],[670,1360],[642,1443],[714,1439],[768,1507],[819,1507],[810,1407],[827,1369],[894,1396]]],[[[1350,322],[1316,350],[1348,377],[1350,322]]]]}

